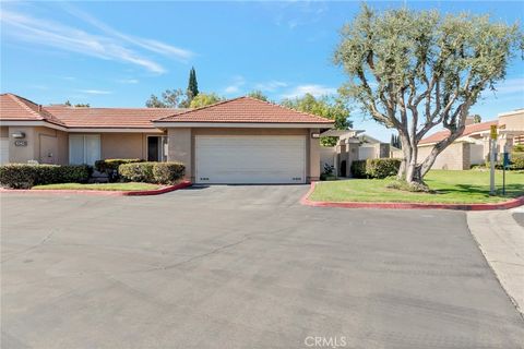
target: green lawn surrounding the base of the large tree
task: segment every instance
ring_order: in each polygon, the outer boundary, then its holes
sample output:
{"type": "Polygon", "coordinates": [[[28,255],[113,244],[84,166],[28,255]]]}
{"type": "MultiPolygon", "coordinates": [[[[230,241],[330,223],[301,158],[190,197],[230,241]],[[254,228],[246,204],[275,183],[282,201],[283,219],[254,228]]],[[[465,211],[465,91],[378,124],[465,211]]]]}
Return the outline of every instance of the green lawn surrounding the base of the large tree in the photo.
{"type": "Polygon", "coordinates": [[[524,171],[505,172],[505,196],[502,195],[502,171],[496,173],[498,193],[489,195],[489,171],[430,171],[425,181],[436,193],[412,193],[388,189],[393,179],[354,179],[319,182],[311,201],[398,202],[398,203],[493,203],[524,195],[524,171]]]}

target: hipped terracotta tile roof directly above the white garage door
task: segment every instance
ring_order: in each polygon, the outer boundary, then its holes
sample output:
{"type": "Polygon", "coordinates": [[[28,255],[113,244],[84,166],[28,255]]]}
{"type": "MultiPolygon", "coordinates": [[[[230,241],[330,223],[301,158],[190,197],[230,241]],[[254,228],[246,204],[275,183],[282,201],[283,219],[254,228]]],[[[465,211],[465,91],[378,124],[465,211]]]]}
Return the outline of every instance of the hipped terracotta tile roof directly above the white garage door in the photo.
{"type": "Polygon", "coordinates": [[[325,123],[326,127],[333,124],[333,120],[251,97],[221,101],[162,118],[154,122],[325,123]]]}

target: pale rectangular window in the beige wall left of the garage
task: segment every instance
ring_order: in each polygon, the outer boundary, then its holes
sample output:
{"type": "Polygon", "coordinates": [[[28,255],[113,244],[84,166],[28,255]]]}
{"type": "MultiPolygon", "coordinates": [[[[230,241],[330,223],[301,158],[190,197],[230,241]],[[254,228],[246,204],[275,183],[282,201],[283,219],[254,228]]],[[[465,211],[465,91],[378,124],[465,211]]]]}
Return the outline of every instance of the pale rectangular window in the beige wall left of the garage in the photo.
{"type": "Polygon", "coordinates": [[[70,134],[69,135],[69,164],[95,165],[100,159],[99,134],[70,134]]]}

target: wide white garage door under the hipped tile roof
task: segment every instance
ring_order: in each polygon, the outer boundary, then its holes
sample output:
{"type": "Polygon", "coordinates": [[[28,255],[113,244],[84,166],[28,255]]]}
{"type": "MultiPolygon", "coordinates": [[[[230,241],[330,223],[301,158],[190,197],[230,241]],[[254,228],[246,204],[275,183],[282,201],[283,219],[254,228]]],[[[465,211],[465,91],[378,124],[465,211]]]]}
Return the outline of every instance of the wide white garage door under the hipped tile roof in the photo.
{"type": "Polygon", "coordinates": [[[305,183],[305,136],[196,136],[196,183],[305,183]]]}

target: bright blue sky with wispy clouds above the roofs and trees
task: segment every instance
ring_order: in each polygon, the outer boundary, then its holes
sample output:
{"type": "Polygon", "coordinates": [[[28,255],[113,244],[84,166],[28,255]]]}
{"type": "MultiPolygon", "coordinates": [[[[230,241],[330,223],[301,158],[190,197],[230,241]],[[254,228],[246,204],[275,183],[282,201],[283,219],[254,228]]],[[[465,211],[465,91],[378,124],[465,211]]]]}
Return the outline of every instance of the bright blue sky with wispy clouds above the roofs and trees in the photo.
{"type": "MultiPolygon", "coordinates": [[[[404,2],[372,2],[377,9],[404,2]]],[[[490,13],[513,23],[519,1],[406,1],[413,9],[490,13]]],[[[186,88],[226,97],[261,89],[274,100],[332,94],[346,80],[331,62],[338,29],[359,2],[1,2],[1,92],[39,104],[143,107],[151,94],[186,88]]],[[[524,63],[515,59],[498,93],[472,108],[484,120],[524,107],[524,63]]],[[[355,128],[389,141],[391,130],[355,128]]]]}

